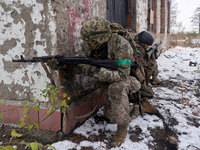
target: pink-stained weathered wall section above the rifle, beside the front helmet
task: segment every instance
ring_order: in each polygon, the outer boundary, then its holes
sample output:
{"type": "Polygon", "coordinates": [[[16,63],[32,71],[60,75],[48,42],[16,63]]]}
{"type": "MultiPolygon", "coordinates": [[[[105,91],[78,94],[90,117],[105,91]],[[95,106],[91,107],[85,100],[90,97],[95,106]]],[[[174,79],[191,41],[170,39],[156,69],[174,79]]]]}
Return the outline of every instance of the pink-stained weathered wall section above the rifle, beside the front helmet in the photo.
{"type": "Polygon", "coordinates": [[[106,0],[55,0],[58,53],[76,55],[80,50],[82,23],[92,16],[106,18],[106,0]]]}

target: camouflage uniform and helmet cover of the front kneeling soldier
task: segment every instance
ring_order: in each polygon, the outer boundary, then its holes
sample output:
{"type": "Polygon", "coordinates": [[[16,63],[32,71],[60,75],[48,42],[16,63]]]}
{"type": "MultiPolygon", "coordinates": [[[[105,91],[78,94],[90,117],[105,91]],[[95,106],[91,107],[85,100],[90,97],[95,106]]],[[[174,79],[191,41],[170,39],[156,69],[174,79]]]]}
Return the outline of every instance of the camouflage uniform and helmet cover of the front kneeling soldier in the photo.
{"type": "MultiPolygon", "coordinates": [[[[105,24],[102,27],[106,30],[101,30],[99,27],[98,29],[100,30],[93,31],[93,28],[90,28],[94,25],[101,26],[101,24],[96,22],[96,19],[91,19],[89,22],[86,22],[87,24],[83,24],[81,35],[85,41],[95,41],[94,45],[96,46],[94,47],[97,47],[97,49],[93,50],[91,49],[93,46],[89,47],[87,44],[83,44],[82,55],[84,54],[89,58],[97,59],[128,59],[133,62],[133,49],[130,43],[123,36],[112,34],[109,29],[109,22],[107,22],[107,27],[105,27],[105,24]],[[88,34],[92,35],[92,37],[88,37],[88,34]]],[[[91,75],[92,70],[95,73],[95,69],[92,69],[94,68],[93,66],[81,66],[86,75],[91,75]]],[[[141,87],[140,82],[129,75],[130,66],[126,64],[121,65],[117,70],[109,70],[101,67],[95,75],[99,83],[104,86],[104,94],[106,96],[105,116],[111,122],[122,126],[128,126],[131,121],[129,115],[129,95],[137,92],[141,87]]]]}

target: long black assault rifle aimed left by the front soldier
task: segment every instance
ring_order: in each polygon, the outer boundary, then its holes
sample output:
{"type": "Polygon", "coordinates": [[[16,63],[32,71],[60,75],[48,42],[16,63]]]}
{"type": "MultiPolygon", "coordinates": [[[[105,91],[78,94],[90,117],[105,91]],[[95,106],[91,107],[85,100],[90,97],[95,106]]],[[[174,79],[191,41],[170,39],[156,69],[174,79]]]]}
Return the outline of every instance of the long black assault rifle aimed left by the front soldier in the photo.
{"type": "MultiPolygon", "coordinates": [[[[33,57],[32,59],[24,59],[21,55],[20,59],[13,59],[12,62],[47,62],[48,60],[55,58],[58,60],[60,65],[78,65],[78,64],[89,64],[96,67],[104,67],[111,70],[117,70],[120,67],[120,62],[118,60],[95,60],[89,59],[85,56],[42,56],[33,57]]],[[[123,59],[121,59],[121,62],[123,59]]],[[[126,60],[125,60],[126,61],[126,60]]]]}

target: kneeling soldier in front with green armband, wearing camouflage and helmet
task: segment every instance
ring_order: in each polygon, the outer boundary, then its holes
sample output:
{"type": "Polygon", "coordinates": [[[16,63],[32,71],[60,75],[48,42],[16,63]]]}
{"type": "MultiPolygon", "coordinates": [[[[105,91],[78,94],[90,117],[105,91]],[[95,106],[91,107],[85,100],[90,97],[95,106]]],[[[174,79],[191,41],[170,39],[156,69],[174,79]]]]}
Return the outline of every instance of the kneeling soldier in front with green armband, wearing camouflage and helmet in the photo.
{"type": "MultiPolygon", "coordinates": [[[[129,95],[136,93],[141,87],[135,77],[129,76],[130,65],[134,62],[133,49],[123,36],[112,32],[112,23],[100,17],[83,23],[81,37],[82,56],[117,60],[119,63],[117,70],[83,64],[75,68],[76,72],[97,78],[103,87],[106,96],[104,115],[110,123],[117,123],[117,132],[110,145],[119,147],[124,142],[131,119],[139,115],[138,107],[133,109],[129,106],[129,95]]],[[[50,60],[47,65],[56,69],[58,63],[55,61],[50,60]],[[56,64],[56,67],[53,64],[56,64]]]]}

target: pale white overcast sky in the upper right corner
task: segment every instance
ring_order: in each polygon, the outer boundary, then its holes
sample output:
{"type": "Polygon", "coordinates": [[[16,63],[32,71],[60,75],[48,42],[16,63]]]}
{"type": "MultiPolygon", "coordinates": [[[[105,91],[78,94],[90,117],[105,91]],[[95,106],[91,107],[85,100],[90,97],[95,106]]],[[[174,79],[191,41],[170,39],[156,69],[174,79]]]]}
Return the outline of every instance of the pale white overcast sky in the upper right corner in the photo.
{"type": "Polygon", "coordinates": [[[190,31],[190,17],[193,15],[195,9],[200,6],[200,0],[175,0],[178,4],[177,21],[181,21],[186,31],[190,31]]]}

